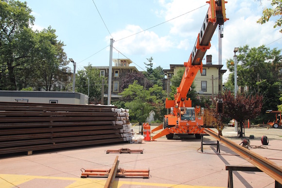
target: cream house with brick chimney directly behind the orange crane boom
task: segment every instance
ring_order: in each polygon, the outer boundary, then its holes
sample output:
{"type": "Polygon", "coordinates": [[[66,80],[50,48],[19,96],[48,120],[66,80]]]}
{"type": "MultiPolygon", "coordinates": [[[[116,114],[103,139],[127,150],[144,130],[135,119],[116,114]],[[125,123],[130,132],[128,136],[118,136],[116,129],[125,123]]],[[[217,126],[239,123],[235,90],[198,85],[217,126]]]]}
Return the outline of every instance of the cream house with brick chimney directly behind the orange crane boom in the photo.
{"type": "MultiPolygon", "coordinates": [[[[200,73],[198,71],[194,84],[196,85],[195,90],[200,97],[211,97],[216,96],[218,94],[218,75],[219,72],[223,75],[226,70],[222,70],[223,65],[213,65],[211,55],[207,55],[207,63],[203,64],[203,72],[200,73]]],[[[184,68],[183,64],[171,64],[170,69],[164,69],[164,73],[167,76],[168,83],[170,83],[170,78],[177,73],[177,71],[181,68],[184,68]]],[[[168,85],[169,91],[169,85],[168,85]]]]}

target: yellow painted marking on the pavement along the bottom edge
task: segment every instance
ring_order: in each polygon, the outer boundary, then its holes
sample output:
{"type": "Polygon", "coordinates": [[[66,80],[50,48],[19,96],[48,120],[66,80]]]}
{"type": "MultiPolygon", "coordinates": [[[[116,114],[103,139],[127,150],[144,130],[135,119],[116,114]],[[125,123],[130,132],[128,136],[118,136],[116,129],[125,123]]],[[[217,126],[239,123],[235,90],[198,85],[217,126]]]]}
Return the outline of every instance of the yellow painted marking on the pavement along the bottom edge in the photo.
{"type": "MultiPolygon", "coordinates": [[[[17,174],[0,174],[1,188],[20,187],[20,184],[29,182],[35,179],[52,179],[52,180],[72,180],[74,183],[66,188],[104,188],[106,180],[97,178],[71,178],[71,177],[51,177],[51,176],[35,176],[35,175],[17,175],[17,174]]],[[[145,183],[145,182],[131,182],[131,181],[114,181],[113,187],[120,188],[124,185],[131,185],[135,187],[150,186],[150,187],[173,187],[173,188],[220,188],[207,186],[189,186],[189,185],[174,185],[174,184],[159,184],[159,183],[145,183]]]]}

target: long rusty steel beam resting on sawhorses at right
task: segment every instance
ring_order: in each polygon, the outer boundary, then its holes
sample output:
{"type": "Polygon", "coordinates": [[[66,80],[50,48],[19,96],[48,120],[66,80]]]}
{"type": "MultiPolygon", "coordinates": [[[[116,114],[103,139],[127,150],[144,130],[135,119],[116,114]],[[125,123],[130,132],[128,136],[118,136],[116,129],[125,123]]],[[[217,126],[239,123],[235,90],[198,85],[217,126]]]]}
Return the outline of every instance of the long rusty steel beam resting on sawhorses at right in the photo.
{"type": "Polygon", "coordinates": [[[217,133],[212,131],[211,129],[204,128],[205,132],[215,138],[216,140],[222,142],[226,145],[229,149],[234,151],[235,153],[242,156],[248,162],[255,165],[261,171],[264,171],[267,175],[275,179],[277,182],[282,184],[282,168],[277,166],[274,162],[268,160],[267,158],[256,154],[245,147],[236,144],[235,142],[229,140],[228,138],[219,136],[217,133]]]}

